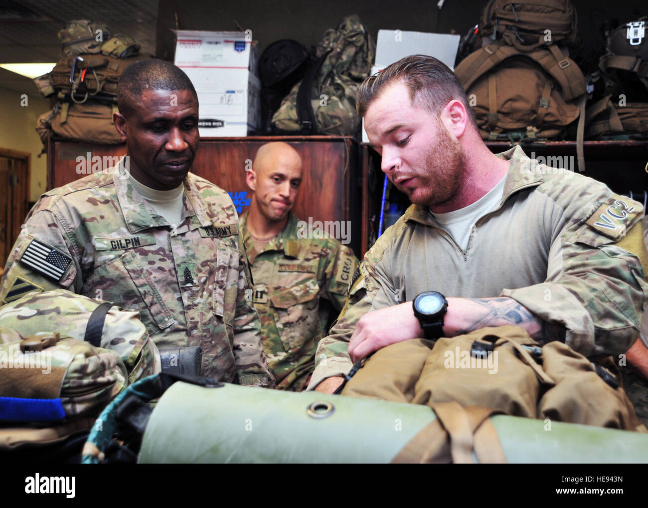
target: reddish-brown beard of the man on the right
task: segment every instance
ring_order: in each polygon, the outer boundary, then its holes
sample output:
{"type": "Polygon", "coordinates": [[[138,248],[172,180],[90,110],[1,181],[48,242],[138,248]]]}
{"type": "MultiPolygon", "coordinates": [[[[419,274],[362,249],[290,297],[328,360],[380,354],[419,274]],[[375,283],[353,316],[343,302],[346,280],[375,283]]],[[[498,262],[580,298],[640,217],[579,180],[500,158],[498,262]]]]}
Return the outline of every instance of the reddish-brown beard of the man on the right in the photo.
{"type": "Polygon", "coordinates": [[[424,184],[410,194],[411,202],[428,208],[445,204],[457,195],[464,183],[467,160],[459,142],[450,138],[443,125],[437,125],[435,134],[437,142],[425,156],[424,184]]]}

